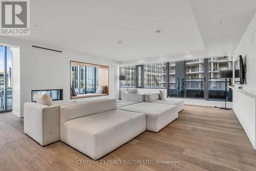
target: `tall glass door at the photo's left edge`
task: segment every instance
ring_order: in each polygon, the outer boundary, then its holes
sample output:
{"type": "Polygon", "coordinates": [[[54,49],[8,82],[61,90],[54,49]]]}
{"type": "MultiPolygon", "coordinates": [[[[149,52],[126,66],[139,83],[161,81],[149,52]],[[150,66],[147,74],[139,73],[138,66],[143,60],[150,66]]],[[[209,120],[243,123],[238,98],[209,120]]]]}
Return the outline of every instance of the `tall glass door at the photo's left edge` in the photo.
{"type": "Polygon", "coordinates": [[[12,54],[0,46],[0,112],[12,110],[12,54]]]}

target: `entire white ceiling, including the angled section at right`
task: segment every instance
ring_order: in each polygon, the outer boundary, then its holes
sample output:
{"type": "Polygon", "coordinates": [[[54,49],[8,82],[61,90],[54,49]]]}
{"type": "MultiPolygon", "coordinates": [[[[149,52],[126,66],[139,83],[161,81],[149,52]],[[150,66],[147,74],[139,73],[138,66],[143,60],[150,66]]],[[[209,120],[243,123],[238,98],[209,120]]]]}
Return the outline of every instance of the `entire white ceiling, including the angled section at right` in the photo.
{"type": "Polygon", "coordinates": [[[186,52],[232,54],[256,0],[33,0],[30,7],[31,25],[38,27],[19,38],[127,61],[186,52]]]}

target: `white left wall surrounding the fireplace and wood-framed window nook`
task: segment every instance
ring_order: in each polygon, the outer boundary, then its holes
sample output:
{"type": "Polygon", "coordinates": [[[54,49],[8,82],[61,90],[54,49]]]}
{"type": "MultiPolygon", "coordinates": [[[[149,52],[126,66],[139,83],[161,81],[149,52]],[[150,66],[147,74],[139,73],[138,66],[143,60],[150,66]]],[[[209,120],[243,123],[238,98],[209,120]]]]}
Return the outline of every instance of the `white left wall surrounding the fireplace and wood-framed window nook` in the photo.
{"type": "MultiPolygon", "coordinates": [[[[63,101],[56,101],[55,103],[113,97],[113,65],[118,65],[119,62],[117,61],[3,36],[0,36],[0,43],[20,48],[20,110],[15,111],[19,113],[20,117],[23,117],[24,102],[31,101],[32,90],[63,89],[63,101]],[[32,45],[62,50],[63,52],[58,53],[32,48],[32,45]],[[109,66],[110,95],[70,100],[70,60],[109,66]]],[[[15,72],[15,68],[13,70],[15,72]]],[[[15,89],[18,85],[14,84],[13,86],[15,89]]],[[[15,99],[13,102],[16,102],[15,99]]]]}

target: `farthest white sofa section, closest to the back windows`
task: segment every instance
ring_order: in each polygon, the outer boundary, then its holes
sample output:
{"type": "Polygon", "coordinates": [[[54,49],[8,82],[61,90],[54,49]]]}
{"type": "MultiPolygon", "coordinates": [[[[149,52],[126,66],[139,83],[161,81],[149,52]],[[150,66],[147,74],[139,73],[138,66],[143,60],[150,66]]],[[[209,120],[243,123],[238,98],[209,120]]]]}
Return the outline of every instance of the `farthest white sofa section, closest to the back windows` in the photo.
{"type": "Polygon", "coordinates": [[[184,109],[184,100],[172,99],[172,98],[165,98],[165,99],[161,100],[159,93],[145,94],[144,100],[145,100],[145,102],[151,102],[151,103],[175,104],[178,106],[179,112],[184,109]]]}

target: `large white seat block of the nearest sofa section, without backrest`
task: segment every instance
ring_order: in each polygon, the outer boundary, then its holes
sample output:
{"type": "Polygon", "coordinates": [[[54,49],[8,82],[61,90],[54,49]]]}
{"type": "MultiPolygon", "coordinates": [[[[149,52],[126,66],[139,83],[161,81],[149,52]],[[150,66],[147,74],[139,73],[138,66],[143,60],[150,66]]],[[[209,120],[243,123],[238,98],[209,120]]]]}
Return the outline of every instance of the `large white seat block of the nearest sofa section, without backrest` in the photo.
{"type": "Polygon", "coordinates": [[[144,132],[146,116],[117,109],[72,119],[61,127],[61,141],[96,160],[144,132]]]}

